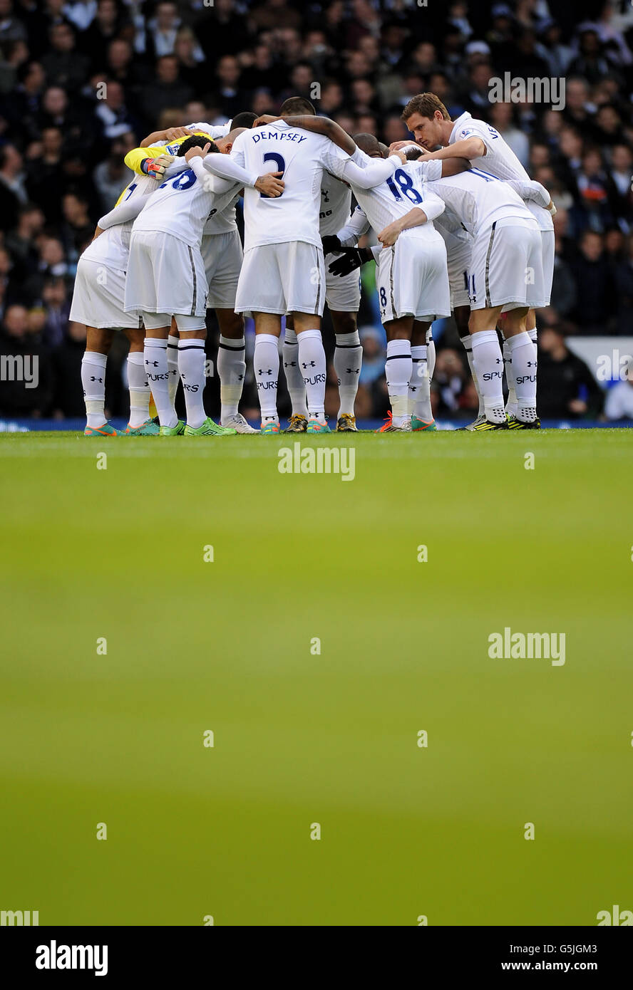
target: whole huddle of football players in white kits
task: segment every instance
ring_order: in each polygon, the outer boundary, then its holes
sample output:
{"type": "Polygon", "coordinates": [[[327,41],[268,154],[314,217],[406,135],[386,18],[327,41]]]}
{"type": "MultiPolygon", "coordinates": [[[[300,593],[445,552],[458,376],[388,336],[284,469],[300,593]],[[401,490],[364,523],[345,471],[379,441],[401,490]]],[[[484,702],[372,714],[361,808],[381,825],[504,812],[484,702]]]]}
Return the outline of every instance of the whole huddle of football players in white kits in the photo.
{"type": "Polygon", "coordinates": [[[451,314],[479,397],[467,429],[539,429],[534,310],[549,305],[552,287],[550,195],[494,128],[468,113],[451,121],[434,94],[413,97],[402,119],[415,143],[386,148],[372,135],[351,138],[292,97],[278,117],[247,112],[221,128],[200,122],[156,132],[128,153],[134,180],[79,259],[70,311],[86,326],[86,436],[119,435],[104,412],[116,330],[130,341],[127,436],[278,434],[280,360],[292,403],[285,432],[329,433],[326,303],[336,337],[336,430],[356,432],[359,269],[371,258],[387,340],[383,431],[436,429],[431,328],[451,314]],[[359,248],[370,229],[377,246],[359,248]],[[220,328],[220,424],[203,400],[207,308],[220,328]],[[261,431],[239,412],[245,315],[255,322],[261,431]],[[178,382],[186,423],[175,411],[178,382]]]}

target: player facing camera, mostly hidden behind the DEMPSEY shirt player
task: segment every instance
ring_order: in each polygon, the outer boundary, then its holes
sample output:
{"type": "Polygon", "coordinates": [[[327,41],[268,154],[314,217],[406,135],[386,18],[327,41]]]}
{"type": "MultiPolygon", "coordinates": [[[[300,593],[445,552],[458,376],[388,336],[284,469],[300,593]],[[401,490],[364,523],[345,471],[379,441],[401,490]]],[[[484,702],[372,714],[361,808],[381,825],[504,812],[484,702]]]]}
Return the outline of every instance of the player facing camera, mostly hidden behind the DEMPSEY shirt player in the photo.
{"type": "MultiPolygon", "coordinates": [[[[301,96],[291,96],[279,110],[280,117],[302,114],[316,116],[316,111],[310,101],[301,96]]],[[[330,172],[324,171],[319,213],[319,233],[324,255],[327,256],[328,251],[332,249],[335,235],[347,223],[351,210],[350,187],[330,172]]],[[[361,308],[361,279],[358,272],[349,272],[343,277],[337,277],[328,268],[325,276],[325,301],[330,310],[336,341],[334,370],[339,384],[336,429],[337,433],[358,433],[354,404],[363,367],[363,347],[358,329],[358,313],[361,308]]],[[[290,425],[284,433],[305,433],[308,425],[305,386],[299,368],[297,337],[291,316],[286,317],[282,356],[283,370],[292,403],[290,425]]]]}

